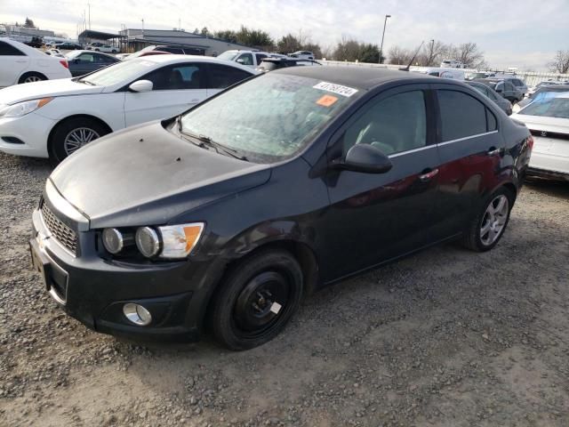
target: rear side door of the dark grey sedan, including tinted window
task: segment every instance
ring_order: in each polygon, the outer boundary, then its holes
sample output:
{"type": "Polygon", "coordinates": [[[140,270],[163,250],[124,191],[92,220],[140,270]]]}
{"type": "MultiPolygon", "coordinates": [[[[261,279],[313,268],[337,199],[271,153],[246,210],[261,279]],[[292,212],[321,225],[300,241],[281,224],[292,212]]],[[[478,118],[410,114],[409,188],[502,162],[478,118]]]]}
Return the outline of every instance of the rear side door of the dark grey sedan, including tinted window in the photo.
{"type": "Polygon", "coordinates": [[[433,87],[441,159],[437,235],[447,238],[464,230],[481,198],[500,181],[504,141],[496,117],[483,101],[459,86],[433,87]]]}

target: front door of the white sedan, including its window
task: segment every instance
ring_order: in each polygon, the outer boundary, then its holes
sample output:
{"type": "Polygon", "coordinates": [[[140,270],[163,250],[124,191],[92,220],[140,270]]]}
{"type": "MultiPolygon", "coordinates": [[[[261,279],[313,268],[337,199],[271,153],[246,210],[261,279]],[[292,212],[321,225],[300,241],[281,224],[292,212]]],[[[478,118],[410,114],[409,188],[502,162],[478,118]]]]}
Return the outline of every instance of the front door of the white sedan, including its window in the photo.
{"type": "Polygon", "coordinates": [[[146,93],[127,92],[124,121],[127,126],[172,117],[204,101],[206,64],[197,62],[166,65],[137,80],[150,80],[154,87],[146,93]]]}

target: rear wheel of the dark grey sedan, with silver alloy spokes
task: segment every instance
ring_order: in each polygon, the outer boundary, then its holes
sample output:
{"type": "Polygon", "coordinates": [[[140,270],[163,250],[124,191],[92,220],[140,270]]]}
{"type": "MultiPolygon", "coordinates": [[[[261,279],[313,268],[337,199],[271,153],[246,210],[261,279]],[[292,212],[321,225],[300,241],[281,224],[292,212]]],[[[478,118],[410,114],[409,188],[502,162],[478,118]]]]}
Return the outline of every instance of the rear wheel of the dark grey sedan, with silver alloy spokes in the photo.
{"type": "Polygon", "coordinates": [[[509,222],[514,195],[502,187],[486,197],[462,238],[462,245],[476,252],[485,252],[498,245],[509,222]]]}

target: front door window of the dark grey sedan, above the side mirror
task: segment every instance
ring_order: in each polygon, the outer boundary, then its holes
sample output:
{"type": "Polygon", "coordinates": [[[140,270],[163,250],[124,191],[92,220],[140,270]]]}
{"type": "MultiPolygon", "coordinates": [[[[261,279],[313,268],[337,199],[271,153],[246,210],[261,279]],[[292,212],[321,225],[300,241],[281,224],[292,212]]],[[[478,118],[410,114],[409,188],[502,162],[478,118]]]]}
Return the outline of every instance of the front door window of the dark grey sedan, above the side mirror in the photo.
{"type": "Polygon", "coordinates": [[[427,145],[427,117],[422,91],[397,93],[373,103],[343,136],[343,154],[355,144],[370,144],[383,154],[427,145]]]}

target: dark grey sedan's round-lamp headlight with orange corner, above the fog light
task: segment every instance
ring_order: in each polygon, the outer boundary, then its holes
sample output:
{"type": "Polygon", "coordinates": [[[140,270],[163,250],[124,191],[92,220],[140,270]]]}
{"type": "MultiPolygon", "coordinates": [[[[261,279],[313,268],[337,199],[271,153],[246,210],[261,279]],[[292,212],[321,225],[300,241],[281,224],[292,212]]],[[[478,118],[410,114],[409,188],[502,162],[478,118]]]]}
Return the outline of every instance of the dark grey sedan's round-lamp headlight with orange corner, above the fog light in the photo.
{"type": "Polygon", "coordinates": [[[157,230],[140,227],[136,230],[136,246],[147,258],[156,255],[167,259],[186,258],[196,246],[203,230],[203,222],[168,225],[157,227],[157,230]]]}

